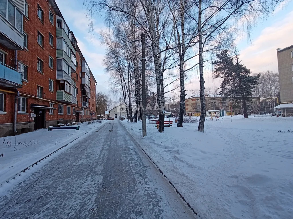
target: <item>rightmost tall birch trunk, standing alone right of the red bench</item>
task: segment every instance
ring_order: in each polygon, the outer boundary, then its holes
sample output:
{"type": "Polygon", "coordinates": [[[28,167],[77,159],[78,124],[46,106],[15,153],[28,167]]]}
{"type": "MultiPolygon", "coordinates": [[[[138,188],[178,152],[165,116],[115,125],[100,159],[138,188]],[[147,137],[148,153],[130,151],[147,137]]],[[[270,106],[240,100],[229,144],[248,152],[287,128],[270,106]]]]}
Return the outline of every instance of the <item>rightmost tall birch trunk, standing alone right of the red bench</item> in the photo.
{"type": "Polygon", "coordinates": [[[199,70],[200,70],[200,119],[198,123],[198,131],[203,132],[205,126],[205,117],[207,112],[205,110],[205,80],[203,77],[203,43],[202,43],[202,0],[198,2],[198,53],[199,53],[199,70]]]}

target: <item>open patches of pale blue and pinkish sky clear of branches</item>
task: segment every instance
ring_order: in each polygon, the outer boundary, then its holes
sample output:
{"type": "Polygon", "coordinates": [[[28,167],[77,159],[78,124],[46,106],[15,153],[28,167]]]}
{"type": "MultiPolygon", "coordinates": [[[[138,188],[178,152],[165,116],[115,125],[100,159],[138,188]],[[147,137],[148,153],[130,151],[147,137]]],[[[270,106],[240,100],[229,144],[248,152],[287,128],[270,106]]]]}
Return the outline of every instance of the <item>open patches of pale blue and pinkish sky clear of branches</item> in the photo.
{"type": "MultiPolygon", "coordinates": [[[[103,56],[105,48],[101,45],[98,32],[105,29],[103,15],[94,18],[94,34],[89,31],[89,19],[86,5],[83,0],[55,0],[69,29],[74,32],[78,46],[86,58],[96,81],[96,90],[110,94],[115,100],[109,87],[109,77],[104,71],[103,56]]],[[[240,50],[240,58],[253,73],[267,70],[278,72],[277,48],[285,48],[293,44],[293,1],[285,0],[284,4],[277,7],[274,15],[266,20],[259,21],[251,31],[251,40],[246,32],[239,34],[235,43],[240,50]]],[[[199,90],[200,84],[197,70],[188,76],[185,89],[187,97],[194,95],[199,90]]],[[[205,74],[205,87],[219,87],[220,81],[212,78],[212,72],[205,74]]]]}

